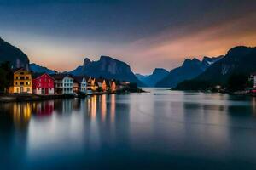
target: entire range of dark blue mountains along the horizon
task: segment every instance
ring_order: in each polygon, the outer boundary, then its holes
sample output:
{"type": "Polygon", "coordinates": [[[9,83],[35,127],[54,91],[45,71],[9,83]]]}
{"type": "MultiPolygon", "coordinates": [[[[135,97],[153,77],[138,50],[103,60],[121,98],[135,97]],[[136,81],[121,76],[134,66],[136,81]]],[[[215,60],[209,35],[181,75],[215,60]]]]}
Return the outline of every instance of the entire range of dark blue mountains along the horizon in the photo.
{"type": "MultiPolygon", "coordinates": [[[[33,72],[47,72],[50,70],[37,64],[29,65],[29,59],[19,48],[0,37],[0,63],[9,61],[12,68],[25,67],[33,72]]],[[[224,85],[231,75],[249,75],[256,71],[256,48],[231,48],[224,56],[204,57],[199,59],[185,59],[183,65],[168,72],[157,68],[151,75],[135,75],[130,65],[108,56],[101,56],[97,61],[84,59],[84,64],[75,70],[67,72],[75,76],[87,75],[91,77],[104,77],[120,81],[136,82],[138,86],[148,87],[177,87],[175,89],[206,88],[209,85],[224,85]]]]}

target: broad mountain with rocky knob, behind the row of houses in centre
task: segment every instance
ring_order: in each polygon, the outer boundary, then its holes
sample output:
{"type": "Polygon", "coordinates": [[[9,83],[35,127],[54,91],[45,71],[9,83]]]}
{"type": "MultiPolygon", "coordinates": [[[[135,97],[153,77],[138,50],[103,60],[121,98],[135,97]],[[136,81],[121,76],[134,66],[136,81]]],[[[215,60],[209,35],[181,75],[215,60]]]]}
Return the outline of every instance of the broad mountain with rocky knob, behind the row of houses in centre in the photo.
{"type": "Polygon", "coordinates": [[[101,56],[98,61],[90,61],[90,59],[86,58],[84,59],[84,65],[80,65],[69,73],[75,76],[87,75],[136,82],[138,86],[143,86],[143,82],[139,81],[131,71],[130,65],[109,56],[101,56]]]}

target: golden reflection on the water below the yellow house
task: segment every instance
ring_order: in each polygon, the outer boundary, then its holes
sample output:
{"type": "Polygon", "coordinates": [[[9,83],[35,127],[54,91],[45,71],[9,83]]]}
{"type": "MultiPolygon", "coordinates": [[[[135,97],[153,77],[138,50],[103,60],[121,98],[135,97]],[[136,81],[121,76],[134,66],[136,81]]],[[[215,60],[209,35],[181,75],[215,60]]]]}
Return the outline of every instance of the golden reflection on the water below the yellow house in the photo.
{"type": "Polygon", "coordinates": [[[13,105],[13,113],[15,127],[22,127],[27,125],[31,119],[32,106],[29,103],[15,103],[13,105]]]}

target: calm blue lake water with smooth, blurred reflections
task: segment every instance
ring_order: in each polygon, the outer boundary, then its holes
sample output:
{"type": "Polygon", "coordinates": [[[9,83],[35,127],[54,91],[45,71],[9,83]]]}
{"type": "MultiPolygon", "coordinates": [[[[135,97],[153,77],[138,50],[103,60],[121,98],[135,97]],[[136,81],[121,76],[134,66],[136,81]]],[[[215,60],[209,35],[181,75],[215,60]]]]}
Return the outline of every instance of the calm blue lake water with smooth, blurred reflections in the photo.
{"type": "Polygon", "coordinates": [[[0,169],[256,169],[256,99],[148,90],[0,104],[0,169]]]}

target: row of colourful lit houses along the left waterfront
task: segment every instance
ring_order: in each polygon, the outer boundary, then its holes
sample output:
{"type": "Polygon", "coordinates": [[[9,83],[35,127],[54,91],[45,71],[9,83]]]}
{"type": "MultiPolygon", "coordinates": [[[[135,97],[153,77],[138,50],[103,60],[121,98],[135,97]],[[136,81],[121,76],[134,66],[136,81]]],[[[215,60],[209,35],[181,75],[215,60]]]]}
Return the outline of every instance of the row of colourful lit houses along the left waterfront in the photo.
{"type": "Polygon", "coordinates": [[[32,73],[25,68],[17,68],[13,70],[12,86],[5,90],[5,98],[2,100],[16,100],[20,97],[20,100],[32,100],[113,94],[125,92],[131,85],[130,82],[102,77],[73,76],[67,73],[32,73]]]}

